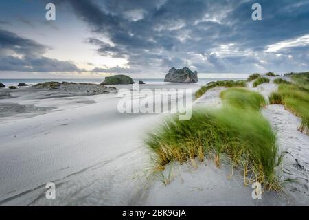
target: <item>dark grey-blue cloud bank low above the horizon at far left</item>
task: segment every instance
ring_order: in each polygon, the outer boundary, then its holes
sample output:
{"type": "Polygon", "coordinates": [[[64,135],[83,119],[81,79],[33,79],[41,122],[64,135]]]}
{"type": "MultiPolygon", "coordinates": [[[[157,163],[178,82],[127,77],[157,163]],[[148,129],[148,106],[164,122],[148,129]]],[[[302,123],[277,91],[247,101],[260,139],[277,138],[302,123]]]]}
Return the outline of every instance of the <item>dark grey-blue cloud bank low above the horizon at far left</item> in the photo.
{"type": "Polygon", "coordinates": [[[0,70],[27,72],[78,71],[75,64],[44,57],[45,45],[0,29],[0,70]]]}

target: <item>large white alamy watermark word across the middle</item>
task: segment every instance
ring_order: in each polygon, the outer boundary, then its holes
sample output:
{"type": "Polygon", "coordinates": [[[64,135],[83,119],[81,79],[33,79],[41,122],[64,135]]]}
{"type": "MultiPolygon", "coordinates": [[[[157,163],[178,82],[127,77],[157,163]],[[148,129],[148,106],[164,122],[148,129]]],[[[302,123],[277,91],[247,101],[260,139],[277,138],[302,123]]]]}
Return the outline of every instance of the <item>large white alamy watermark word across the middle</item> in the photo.
{"type": "Polygon", "coordinates": [[[119,89],[119,113],[179,113],[179,120],[190,120],[192,89],[119,89]]]}

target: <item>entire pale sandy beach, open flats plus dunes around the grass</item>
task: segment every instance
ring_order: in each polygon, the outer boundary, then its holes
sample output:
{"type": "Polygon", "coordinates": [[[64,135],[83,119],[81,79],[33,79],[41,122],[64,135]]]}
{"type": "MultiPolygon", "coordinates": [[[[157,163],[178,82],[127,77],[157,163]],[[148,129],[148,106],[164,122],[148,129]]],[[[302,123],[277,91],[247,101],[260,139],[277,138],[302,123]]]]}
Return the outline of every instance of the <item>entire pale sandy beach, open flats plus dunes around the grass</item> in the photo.
{"type": "MultiPolygon", "coordinates": [[[[194,92],[200,85],[141,87],[190,87],[194,92]]],[[[266,98],[277,89],[272,82],[248,87],[266,98]]],[[[207,91],[194,106],[220,108],[219,94],[224,89],[207,91]]],[[[54,91],[31,88],[2,89],[1,93],[5,94],[0,100],[4,109],[0,120],[2,206],[308,205],[309,138],[297,131],[299,118],[280,105],[270,105],[262,113],[277,131],[280,149],[287,153],[282,178],[297,181],[287,184],[282,193],[264,192],[263,199],[254,200],[240,171],[231,176],[228,164],[217,168],[209,159],[170,164],[163,171],[166,186],[162,179],[150,178],[149,151],[143,140],[166,114],[119,113],[116,91],[54,97],[54,91]],[[47,182],[56,184],[56,199],[45,198],[47,182]]]]}

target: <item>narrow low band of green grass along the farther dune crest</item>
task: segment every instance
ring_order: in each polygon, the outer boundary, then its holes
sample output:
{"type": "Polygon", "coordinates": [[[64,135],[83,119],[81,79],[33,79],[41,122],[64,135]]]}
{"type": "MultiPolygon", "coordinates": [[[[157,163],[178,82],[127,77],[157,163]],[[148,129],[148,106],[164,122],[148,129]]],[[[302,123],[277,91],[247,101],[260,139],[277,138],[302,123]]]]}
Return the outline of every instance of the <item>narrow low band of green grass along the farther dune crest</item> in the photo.
{"type": "Polygon", "coordinates": [[[246,87],[246,81],[245,80],[222,80],[222,81],[216,81],[216,82],[210,82],[207,83],[207,85],[201,87],[196,91],[195,96],[196,98],[201,97],[203,94],[205,94],[206,91],[209,89],[212,89],[214,87],[246,87]]]}

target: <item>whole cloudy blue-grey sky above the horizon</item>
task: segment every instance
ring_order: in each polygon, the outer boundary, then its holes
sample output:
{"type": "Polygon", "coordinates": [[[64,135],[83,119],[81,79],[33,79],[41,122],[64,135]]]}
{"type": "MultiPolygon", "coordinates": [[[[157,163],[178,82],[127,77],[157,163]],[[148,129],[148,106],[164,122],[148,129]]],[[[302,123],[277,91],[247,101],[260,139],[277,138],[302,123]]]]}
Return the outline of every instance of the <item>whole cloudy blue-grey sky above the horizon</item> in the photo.
{"type": "Polygon", "coordinates": [[[225,78],[308,64],[309,0],[0,1],[0,78],[162,78],[185,66],[225,78]]]}

